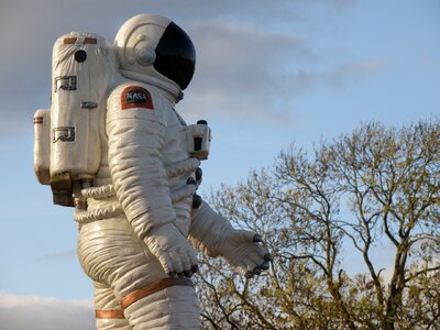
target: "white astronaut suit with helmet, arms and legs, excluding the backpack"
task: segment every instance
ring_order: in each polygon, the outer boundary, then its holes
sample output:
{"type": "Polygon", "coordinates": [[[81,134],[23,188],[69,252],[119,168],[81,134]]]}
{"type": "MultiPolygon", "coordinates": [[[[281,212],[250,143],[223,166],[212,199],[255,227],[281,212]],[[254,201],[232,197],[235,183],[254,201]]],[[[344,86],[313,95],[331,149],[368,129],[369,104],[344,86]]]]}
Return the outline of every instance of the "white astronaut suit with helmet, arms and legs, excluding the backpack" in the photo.
{"type": "Polygon", "coordinates": [[[174,109],[194,73],[186,33],[142,14],[123,24],[114,51],[124,81],[107,100],[94,184],[77,193],[88,207],[75,211],[97,328],[200,329],[189,279],[197,272],[194,248],[249,277],[268,267],[270,255],[258,235],[234,230],[195,198],[210,131],[187,127],[174,109]]]}

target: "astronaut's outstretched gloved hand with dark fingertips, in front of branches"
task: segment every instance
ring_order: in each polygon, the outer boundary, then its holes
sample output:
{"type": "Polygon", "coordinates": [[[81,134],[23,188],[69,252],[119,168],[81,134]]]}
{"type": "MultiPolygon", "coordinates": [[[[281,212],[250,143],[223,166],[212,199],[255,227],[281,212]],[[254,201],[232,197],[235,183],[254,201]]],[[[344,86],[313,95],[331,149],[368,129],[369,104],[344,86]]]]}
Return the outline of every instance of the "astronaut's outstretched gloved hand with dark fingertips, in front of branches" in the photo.
{"type": "Polygon", "coordinates": [[[239,274],[251,278],[267,271],[272,260],[271,254],[260,243],[261,235],[231,227],[219,242],[217,251],[239,274]]]}

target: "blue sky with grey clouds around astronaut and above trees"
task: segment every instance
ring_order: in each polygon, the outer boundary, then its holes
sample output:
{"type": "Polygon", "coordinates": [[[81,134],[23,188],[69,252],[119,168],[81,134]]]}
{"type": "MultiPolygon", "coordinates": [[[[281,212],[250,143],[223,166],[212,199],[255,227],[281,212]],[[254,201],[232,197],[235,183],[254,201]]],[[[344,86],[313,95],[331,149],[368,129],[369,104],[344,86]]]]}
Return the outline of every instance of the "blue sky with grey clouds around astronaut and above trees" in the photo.
{"type": "Polygon", "coordinates": [[[0,304],[0,320],[15,318],[8,329],[25,329],[8,306],[72,302],[82,312],[92,297],[76,261],[73,210],[53,206],[32,169],[32,118],[50,106],[52,45],[73,30],[112,41],[142,12],[175,20],[196,45],[196,75],[177,109],[212,129],[204,194],[271,166],[292,141],[309,148],[361,122],[398,127],[440,114],[437,0],[2,0],[0,300],[13,304],[0,304]]]}

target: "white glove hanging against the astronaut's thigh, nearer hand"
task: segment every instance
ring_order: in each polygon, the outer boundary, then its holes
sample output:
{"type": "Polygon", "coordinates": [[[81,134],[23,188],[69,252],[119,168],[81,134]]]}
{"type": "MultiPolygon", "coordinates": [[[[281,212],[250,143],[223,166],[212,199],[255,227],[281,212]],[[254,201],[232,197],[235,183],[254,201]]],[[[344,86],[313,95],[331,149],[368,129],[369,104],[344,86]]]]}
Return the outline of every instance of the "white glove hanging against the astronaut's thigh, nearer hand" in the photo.
{"type": "Polygon", "coordinates": [[[197,272],[196,252],[173,223],[151,229],[144,242],[170,277],[191,277],[197,272]]]}

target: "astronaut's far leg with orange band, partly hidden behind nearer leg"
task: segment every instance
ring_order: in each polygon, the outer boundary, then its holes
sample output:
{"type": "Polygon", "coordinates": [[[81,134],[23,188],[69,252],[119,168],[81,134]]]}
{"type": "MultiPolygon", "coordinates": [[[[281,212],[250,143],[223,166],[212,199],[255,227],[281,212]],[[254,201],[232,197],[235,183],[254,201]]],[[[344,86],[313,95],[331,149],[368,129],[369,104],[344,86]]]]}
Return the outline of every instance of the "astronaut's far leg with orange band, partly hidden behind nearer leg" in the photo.
{"type": "Polygon", "coordinates": [[[133,330],[123,315],[113,289],[95,282],[95,312],[97,330],[133,330]]]}

